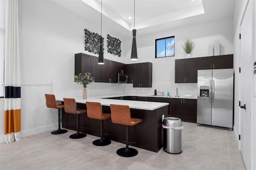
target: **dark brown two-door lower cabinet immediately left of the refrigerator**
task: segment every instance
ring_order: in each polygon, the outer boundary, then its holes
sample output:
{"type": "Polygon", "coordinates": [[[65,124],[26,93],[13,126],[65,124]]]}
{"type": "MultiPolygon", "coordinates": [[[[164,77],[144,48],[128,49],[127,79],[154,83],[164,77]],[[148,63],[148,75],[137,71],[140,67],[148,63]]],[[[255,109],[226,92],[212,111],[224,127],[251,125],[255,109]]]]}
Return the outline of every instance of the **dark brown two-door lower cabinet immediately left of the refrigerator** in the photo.
{"type": "Polygon", "coordinates": [[[180,118],[184,122],[196,123],[196,99],[171,100],[171,116],[180,118]]]}

